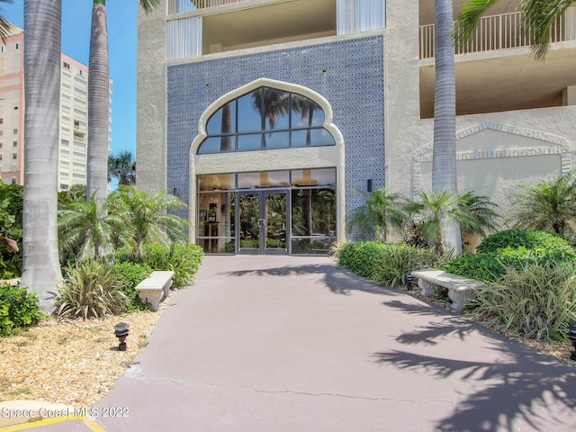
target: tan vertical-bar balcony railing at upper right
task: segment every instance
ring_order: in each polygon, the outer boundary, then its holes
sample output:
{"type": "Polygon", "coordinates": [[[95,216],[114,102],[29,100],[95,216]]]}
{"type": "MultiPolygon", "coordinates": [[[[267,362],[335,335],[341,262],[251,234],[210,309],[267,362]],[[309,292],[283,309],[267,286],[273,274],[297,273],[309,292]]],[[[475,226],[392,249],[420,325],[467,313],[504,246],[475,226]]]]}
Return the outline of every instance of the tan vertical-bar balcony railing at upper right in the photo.
{"type": "MultiPolygon", "coordinates": [[[[472,40],[455,47],[455,54],[527,47],[531,34],[523,27],[524,14],[500,14],[482,17],[472,40]]],[[[553,24],[550,42],[576,40],[576,6],[572,6],[553,24]]],[[[434,57],[434,24],[420,26],[420,58],[434,57]]]]}

